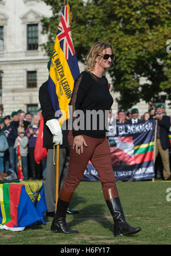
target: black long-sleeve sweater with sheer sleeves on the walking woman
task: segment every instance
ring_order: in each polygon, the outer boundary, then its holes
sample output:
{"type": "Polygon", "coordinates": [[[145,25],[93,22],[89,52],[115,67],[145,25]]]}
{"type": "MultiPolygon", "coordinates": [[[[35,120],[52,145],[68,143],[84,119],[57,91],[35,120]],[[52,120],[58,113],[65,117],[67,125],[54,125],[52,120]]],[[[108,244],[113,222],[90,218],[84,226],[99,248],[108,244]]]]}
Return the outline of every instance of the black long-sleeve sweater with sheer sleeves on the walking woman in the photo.
{"type": "Polygon", "coordinates": [[[87,135],[103,138],[107,132],[107,119],[113,98],[109,92],[108,80],[102,76],[83,71],[75,80],[70,105],[72,115],[82,111],[81,115],[73,116],[74,136],[87,135]]]}

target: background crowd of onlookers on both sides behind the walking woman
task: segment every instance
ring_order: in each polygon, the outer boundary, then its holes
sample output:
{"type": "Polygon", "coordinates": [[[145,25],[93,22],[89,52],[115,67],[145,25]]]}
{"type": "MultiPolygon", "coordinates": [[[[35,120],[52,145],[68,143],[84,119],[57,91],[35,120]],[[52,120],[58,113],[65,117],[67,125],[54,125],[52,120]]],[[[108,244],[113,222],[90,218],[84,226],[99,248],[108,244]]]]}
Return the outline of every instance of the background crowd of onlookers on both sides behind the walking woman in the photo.
{"type": "MultiPolygon", "coordinates": [[[[156,118],[157,109],[159,109],[159,112],[160,109],[162,109],[159,115],[164,113],[164,106],[162,104],[150,105],[149,110],[141,116],[137,108],[132,108],[127,112],[120,109],[115,113],[115,117],[112,116],[112,111],[110,111],[108,117],[109,129],[112,127],[114,119],[116,119],[116,124],[134,124],[156,118]]],[[[42,159],[40,164],[37,164],[34,157],[41,112],[42,109],[39,108],[36,115],[32,115],[30,112],[25,113],[22,109],[19,109],[18,111],[13,111],[11,115],[5,115],[3,106],[0,105],[0,172],[8,173],[9,170],[15,170],[18,174],[19,150],[24,180],[30,178],[33,180],[46,180],[47,158],[42,159]]],[[[157,164],[155,167],[156,178],[164,178],[165,172],[166,179],[170,176],[171,151],[168,146],[166,146],[166,148],[169,153],[166,153],[165,149],[162,149],[162,147],[160,147],[160,151],[159,149],[157,151],[157,164]],[[158,154],[158,152],[160,154],[158,154]],[[169,160],[164,158],[167,155],[169,155],[169,160]],[[165,165],[167,165],[166,168],[164,168],[165,165]],[[164,169],[164,171],[162,171],[162,169],[164,169]]]]}

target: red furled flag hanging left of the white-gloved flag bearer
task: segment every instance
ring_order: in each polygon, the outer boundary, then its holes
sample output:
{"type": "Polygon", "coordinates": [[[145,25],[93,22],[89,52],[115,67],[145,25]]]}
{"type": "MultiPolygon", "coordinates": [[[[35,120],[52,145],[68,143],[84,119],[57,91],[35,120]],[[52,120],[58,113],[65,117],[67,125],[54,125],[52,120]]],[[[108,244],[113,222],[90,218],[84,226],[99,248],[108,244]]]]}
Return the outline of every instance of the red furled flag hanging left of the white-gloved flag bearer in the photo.
{"type": "Polygon", "coordinates": [[[34,149],[34,159],[37,164],[40,164],[40,161],[44,159],[44,157],[47,157],[47,149],[43,148],[43,126],[44,126],[44,119],[41,114],[38,137],[36,139],[36,144],[34,149]]]}

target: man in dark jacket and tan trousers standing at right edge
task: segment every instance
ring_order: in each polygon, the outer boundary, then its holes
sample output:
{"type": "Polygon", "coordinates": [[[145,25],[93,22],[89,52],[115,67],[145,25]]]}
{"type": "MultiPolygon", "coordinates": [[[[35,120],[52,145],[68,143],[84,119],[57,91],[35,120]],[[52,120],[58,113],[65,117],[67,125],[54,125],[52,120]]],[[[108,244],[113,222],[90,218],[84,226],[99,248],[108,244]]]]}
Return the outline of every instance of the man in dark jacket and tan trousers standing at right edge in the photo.
{"type": "Polygon", "coordinates": [[[164,105],[158,104],[156,107],[156,115],[153,116],[157,120],[157,140],[155,157],[160,153],[163,164],[164,180],[171,180],[170,178],[170,164],[169,164],[169,128],[170,117],[164,115],[164,105]]]}

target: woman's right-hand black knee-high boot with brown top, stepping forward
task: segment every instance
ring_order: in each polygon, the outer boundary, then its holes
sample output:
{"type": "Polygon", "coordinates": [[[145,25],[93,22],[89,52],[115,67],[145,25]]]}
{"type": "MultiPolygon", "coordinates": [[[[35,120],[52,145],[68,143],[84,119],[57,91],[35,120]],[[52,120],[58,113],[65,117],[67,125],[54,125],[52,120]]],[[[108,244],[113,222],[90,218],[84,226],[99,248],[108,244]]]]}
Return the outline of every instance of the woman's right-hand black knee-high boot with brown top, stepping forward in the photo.
{"type": "MultiPolygon", "coordinates": [[[[123,212],[123,208],[121,206],[121,202],[118,197],[113,197],[112,189],[105,190],[104,197],[109,208],[109,211],[112,214],[113,221],[114,221],[114,229],[113,234],[116,237],[117,235],[132,235],[136,234],[141,231],[141,227],[132,227],[130,226],[127,221],[125,221],[125,216],[123,212]],[[107,200],[106,200],[107,199],[107,200]]],[[[115,189],[115,196],[116,189],[115,189]]]]}

